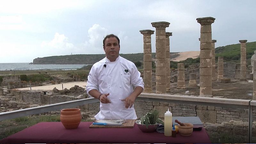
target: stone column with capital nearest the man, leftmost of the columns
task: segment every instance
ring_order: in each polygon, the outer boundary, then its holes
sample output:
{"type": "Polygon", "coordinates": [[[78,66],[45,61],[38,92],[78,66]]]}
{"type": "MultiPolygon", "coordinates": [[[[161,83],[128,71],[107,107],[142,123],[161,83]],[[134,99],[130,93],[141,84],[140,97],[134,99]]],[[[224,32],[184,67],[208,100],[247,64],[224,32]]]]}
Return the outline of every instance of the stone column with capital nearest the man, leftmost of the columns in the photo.
{"type": "Polygon", "coordinates": [[[152,93],[152,56],[151,56],[151,35],[154,30],[140,30],[143,35],[143,82],[144,92],[152,93]]]}

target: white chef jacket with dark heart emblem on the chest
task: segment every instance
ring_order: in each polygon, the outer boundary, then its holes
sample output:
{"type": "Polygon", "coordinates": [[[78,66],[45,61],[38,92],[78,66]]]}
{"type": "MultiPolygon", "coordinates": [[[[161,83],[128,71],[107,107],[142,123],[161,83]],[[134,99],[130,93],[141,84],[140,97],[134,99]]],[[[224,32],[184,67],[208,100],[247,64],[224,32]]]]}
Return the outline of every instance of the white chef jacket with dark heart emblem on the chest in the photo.
{"type": "Polygon", "coordinates": [[[93,64],[88,75],[86,91],[88,95],[92,89],[102,94],[109,93],[108,99],[111,101],[107,104],[100,102],[100,112],[95,118],[137,119],[134,106],[125,108],[124,101],[121,101],[133,92],[132,86],[141,86],[144,89],[140,72],[133,62],[118,56],[113,62],[105,57],[93,64]]]}

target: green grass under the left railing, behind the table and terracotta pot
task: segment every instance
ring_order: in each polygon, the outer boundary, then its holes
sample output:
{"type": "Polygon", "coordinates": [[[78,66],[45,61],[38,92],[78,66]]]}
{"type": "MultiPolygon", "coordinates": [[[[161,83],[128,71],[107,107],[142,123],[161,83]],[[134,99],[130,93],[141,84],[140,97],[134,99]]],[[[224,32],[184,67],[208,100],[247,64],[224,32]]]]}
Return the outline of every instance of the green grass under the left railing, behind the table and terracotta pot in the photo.
{"type": "MultiPolygon", "coordinates": [[[[82,119],[82,122],[90,121],[92,120],[82,119]]],[[[14,119],[0,121],[0,140],[40,122],[60,122],[60,115],[40,115],[31,117],[23,116],[14,119]]]]}

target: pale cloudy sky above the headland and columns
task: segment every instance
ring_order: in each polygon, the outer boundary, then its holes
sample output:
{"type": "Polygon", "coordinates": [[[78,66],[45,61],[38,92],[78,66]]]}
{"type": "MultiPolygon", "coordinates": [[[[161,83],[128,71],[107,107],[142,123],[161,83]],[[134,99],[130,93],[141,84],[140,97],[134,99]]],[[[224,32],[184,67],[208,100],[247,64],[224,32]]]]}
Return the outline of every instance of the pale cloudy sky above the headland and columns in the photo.
{"type": "MultiPolygon", "coordinates": [[[[151,22],[170,22],[170,52],[200,51],[200,24],[213,17],[215,47],[256,41],[255,0],[0,0],[0,63],[38,57],[104,54],[103,38],[115,34],[120,53],[142,53],[151,22]]],[[[151,35],[156,52],[156,34],[151,35]]],[[[256,49],[256,48],[255,48],[256,49]]]]}

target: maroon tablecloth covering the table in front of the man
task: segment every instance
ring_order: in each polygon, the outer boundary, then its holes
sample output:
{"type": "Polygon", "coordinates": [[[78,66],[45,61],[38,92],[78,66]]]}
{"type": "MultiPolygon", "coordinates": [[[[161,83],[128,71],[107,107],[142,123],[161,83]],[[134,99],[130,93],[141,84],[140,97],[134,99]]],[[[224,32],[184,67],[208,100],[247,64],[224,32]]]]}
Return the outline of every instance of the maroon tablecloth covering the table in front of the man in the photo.
{"type": "Polygon", "coordinates": [[[0,143],[211,143],[203,128],[191,136],[164,136],[164,133],[141,132],[134,128],[89,128],[92,122],[81,122],[77,129],[67,130],[61,122],[42,122],[17,132],[0,143]]]}

